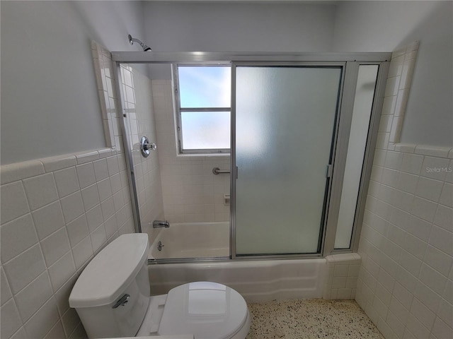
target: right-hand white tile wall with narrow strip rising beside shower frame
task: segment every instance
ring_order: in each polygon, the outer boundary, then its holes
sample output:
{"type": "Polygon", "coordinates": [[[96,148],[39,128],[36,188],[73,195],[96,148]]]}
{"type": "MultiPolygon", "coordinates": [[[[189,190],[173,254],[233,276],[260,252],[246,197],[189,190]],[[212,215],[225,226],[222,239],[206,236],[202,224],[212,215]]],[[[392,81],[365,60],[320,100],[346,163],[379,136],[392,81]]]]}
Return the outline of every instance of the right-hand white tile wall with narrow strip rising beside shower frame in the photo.
{"type": "Polygon", "coordinates": [[[453,338],[453,148],[396,143],[413,52],[392,57],[355,299],[385,338],[453,338]]]}

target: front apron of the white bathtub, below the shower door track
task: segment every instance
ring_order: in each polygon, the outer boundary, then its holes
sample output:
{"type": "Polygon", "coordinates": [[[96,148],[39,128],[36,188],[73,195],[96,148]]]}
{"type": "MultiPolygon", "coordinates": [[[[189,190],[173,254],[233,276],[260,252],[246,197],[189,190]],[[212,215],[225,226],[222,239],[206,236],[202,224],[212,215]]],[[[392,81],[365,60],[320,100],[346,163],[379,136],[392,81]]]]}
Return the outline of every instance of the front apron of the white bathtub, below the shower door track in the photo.
{"type": "Polygon", "coordinates": [[[323,297],[325,258],[285,260],[225,260],[197,263],[154,263],[148,266],[151,295],[193,281],[221,283],[241,293],[247,302],[323,297]]]}

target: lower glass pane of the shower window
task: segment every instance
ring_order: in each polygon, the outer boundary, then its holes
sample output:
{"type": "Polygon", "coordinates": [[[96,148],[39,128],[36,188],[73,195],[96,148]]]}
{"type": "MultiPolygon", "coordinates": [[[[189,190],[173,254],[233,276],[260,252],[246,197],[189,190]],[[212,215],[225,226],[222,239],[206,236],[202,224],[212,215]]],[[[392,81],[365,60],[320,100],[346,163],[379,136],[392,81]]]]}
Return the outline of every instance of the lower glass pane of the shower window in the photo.
{"type": "Polygon", "coordinates": [[[230,112],[181,112],[183,148],[229,148],[230,112]]]}

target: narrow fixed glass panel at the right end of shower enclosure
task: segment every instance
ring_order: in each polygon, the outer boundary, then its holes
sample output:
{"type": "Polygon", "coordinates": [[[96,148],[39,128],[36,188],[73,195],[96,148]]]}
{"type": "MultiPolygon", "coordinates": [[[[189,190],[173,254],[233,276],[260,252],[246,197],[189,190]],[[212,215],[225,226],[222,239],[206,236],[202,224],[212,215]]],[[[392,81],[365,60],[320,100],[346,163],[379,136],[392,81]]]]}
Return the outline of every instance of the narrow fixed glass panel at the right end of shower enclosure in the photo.
{"type": "Polygon", "coordinates": [[[335,249],[349,249],[367,145],[369,119],[377,80],[377,65],[360,65],[341,191],[335,249]]]}

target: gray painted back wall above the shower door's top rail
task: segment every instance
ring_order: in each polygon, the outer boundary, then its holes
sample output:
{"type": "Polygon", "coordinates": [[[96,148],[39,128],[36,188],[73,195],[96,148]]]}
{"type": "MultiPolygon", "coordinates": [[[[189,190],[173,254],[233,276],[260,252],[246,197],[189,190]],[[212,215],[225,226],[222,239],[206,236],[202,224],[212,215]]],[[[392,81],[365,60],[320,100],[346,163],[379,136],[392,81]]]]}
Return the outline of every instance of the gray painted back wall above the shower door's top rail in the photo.
{"type": "Polygon", "coordinates": [[[329,51],[334,5],[144,3],[145,35],[156,52],[329,51]]]}

